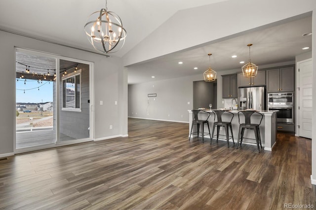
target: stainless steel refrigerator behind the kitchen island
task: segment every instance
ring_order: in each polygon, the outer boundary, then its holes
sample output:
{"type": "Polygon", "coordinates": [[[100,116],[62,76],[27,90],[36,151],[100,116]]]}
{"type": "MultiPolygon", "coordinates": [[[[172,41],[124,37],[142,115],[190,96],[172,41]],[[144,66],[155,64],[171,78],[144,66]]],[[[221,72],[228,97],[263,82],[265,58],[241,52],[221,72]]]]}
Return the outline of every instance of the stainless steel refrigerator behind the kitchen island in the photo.
{"type": "Polygon", "coordinates": [[[266,110],[266,87],[238,88],[238,106],[241,110],[266,110]]]}

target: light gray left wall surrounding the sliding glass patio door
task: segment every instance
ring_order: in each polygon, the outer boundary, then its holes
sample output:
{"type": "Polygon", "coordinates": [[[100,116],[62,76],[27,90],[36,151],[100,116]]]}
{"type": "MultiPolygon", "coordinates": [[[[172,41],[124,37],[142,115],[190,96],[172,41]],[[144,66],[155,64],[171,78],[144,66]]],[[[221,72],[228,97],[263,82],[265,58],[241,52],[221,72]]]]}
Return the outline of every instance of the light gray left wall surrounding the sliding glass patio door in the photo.
{"type": "Polygon", "coordinates": [[[102,139],[127,134],[127,72],[117,57],[89,53],[0,30],[0,156],[12,154],[15,138],[15,48],[32,49],[94,62],[95,135],[102,139]],[[124,98],[125,97],[125,98],[124,98]],[[103,105],[99,101],[103,100],[103,105]],[[115,105],[118,101],[119,105],[115,105]],[[121,103],[122,101],[122,103],[121,103]],[[125,101],[125,102],[124,102],[125,101]],[[113,129],[109,129],[109,125],[113,129]]]}

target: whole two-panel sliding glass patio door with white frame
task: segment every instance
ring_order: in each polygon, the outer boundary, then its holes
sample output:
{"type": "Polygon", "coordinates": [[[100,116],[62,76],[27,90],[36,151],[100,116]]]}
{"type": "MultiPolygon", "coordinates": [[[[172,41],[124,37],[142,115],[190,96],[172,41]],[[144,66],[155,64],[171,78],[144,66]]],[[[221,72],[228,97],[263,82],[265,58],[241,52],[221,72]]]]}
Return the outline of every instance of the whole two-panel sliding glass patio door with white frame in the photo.
{"type": "Polygon", "coordinates": [[[92,63],[16,50],[15,150],[93,139],[92,63]]]}

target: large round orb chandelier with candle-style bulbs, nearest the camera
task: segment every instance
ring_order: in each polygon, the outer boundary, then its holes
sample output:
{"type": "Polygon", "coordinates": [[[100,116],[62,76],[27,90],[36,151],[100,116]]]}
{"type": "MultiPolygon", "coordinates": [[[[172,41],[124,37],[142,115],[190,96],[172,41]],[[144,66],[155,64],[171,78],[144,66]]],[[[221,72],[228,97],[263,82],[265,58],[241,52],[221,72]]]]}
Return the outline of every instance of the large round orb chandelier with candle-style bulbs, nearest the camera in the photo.
{"type": "Polygon", "coordinates": [[[119,16],[108,11],[107,0],[105,9],[102,8],[88,17],[84,31],[94,49],[101,53],[115,53],[125,42],[126,30],[119,16]]]}

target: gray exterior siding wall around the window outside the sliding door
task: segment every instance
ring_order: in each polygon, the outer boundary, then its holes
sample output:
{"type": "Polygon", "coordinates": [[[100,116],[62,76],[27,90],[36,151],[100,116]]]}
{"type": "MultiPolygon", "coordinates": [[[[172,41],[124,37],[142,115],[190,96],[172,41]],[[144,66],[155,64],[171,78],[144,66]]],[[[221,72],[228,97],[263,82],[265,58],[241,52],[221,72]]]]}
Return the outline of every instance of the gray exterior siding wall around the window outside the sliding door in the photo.
{"type": "MultiPolygon", "coordinates": [[[[78,69],[81,69],[81,112],[63,111],[62,100],[60,100],[60,133],[75,139],[89,137],[89,65],[80,63],[78,69]]],[[[71,71],[68,71],[71,73],[71,71]]],[[[60,84],[63,78],[60,77],[60,84]]],[[[60,89],[60,98],[62,99],[62,85],[60,89]]]]}

